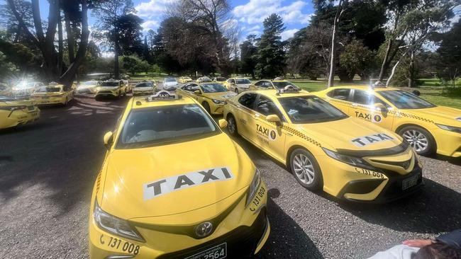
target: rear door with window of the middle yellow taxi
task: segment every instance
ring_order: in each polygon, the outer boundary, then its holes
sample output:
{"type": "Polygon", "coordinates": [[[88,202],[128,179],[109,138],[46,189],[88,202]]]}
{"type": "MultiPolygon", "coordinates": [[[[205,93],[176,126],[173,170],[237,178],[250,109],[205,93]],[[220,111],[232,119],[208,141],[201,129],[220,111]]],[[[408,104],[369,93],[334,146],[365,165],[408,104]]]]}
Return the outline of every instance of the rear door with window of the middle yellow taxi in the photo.
{"type": "Polygon", "coordinates": [[[238,98],[238,113],[234,114],[238,133],[252,142],[254,141],[252,129],[256,127],[253,120],[253,114],[255,113],[253,109],[256,98],[256,93],[245,93],[243,96],[240,96],[240,98],[238,98]]]}

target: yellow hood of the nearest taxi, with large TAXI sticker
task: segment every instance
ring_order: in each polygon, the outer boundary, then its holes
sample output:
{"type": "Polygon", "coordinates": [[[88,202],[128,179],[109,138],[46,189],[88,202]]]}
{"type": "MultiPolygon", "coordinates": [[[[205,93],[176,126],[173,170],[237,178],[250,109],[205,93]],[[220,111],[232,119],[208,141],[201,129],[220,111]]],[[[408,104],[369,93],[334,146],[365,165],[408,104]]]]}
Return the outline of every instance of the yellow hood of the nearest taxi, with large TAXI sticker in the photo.
{"type": "Polygon", "coordinates": [[[224,133],[164,146],[115,149],[106,168],[101,208],[123,219],[213,205],[246,188],[255,171],[245,152],[224,133]],[[199,171],[213,171],[218,180],[202,183],[205,178],[199,171]],[[157,183],[160,189],[155,189],[157,183]],[[177,183],[182,185],[175,189],[177,183]]]}

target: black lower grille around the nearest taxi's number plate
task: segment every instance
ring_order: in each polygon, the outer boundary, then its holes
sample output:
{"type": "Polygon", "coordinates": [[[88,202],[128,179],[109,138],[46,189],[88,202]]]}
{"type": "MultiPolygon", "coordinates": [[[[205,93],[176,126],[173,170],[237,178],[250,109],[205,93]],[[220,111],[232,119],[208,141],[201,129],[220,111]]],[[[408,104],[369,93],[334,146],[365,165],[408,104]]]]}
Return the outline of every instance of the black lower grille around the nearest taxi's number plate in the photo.
{"type": "Polygon", "coordinates": [[[200,246],[184,249],[174,253],[160,255],[159,259],[187,258],[201,251],[227,243],[227,258],[245,258],[255,253],[258,242],[264,235],[267,227],[266,209],[263,208],[251,226],[239,226],[228,234],[208,241],[200,246]]]}

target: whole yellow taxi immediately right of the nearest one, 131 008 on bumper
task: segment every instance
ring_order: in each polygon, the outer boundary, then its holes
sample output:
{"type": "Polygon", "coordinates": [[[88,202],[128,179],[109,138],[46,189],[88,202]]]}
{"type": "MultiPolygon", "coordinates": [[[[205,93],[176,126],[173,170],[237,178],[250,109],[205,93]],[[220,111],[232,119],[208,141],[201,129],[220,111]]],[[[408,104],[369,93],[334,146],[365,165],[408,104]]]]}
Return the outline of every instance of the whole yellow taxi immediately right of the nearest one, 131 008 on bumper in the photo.
{"type": "Polygon", "coordinates": [[[286,165],[309,190],[387,202],[423,185],[421,163],[408,142],[306,91],[240,93],[224,105],[223,116],[230,134],[286,165]]]}

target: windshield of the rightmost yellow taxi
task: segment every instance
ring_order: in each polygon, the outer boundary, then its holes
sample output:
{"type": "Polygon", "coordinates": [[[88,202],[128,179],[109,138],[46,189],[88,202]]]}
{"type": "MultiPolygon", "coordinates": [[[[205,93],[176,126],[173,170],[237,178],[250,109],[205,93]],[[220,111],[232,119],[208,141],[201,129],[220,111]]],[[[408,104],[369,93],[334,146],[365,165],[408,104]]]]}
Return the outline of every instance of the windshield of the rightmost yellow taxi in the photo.
{"type": "Polygon", "coordinates": [[[435,107],[435,105],[429,103],[427,100],[423,100],[418,96],[413,95],[413,93],[406,91],[390,90],[379,91],[378,93],[399,109],[422,109],[435,107]]]}

